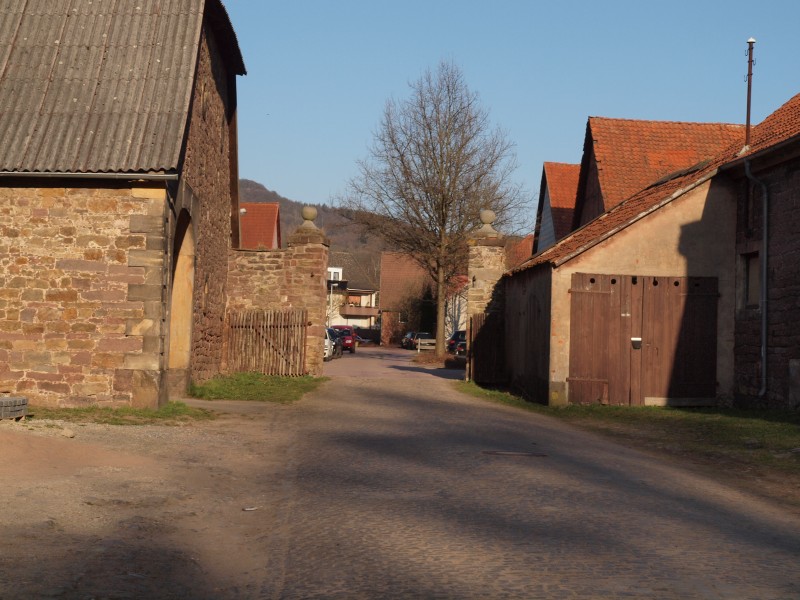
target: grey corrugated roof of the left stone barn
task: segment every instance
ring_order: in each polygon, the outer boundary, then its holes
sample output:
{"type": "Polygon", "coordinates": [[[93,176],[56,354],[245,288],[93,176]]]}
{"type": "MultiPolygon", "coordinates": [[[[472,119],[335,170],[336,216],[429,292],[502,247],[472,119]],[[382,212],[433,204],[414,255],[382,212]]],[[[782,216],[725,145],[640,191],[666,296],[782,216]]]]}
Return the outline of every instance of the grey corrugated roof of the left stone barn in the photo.
{"type": "Polygon", "coordinates": [[[0,0],[0,171],[176,171],[205,10],[244,74],[219,0],[0,0]]]}

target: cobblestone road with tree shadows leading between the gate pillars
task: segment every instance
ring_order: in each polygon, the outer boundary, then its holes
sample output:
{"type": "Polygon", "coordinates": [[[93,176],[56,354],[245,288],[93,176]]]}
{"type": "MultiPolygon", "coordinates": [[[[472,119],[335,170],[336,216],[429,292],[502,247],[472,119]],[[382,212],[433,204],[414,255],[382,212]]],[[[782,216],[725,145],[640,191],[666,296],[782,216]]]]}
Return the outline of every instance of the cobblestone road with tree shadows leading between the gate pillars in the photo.
{"type": "Polygon", "coordinates": [[[800,598],[800,522],[374,349],[286,447],[267,598],[800,598]]]}

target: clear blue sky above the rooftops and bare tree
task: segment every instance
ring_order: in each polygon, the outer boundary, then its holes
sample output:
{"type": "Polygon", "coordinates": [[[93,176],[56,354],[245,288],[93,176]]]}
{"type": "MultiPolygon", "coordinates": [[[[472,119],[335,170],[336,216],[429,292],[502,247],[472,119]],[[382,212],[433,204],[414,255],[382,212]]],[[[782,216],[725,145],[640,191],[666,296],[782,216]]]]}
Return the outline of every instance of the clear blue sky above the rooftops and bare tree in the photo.
{"type": "Polygon", "coordinates": [[[240,176],[334,203],[389,98],[441,60],[463,71],[516,145],[516,179],[578,163],[591,116],[745,120],[800,93],[800,2],[740,0],[224,0],[238,78],[240,176]]]}

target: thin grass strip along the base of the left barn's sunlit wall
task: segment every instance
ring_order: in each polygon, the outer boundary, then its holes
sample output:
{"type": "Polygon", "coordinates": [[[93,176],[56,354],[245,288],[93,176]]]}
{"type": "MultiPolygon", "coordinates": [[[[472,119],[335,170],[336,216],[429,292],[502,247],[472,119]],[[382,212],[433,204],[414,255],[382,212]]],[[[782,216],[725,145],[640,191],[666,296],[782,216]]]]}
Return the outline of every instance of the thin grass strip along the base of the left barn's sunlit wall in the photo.
{"type": "Polygon", "coordinates": [[[40,408],[34,406],[30,407],[29,411],[27,418],[31,420],[51,419],[104,425],[178,425],[216,418],[211,411],[192,408],[183,402],[169,402],[159,409],[101,406],[40,408]]]}

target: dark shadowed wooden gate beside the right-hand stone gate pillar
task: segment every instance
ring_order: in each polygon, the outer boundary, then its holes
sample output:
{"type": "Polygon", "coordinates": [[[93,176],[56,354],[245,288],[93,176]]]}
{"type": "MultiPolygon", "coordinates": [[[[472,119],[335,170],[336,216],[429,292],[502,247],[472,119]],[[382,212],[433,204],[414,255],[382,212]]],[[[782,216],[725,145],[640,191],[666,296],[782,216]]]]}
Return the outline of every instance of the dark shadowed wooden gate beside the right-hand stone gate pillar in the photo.
{"type": "Polygon", "coordinates": [[[475,383],[505,383],[503,360],[505,328],[497,313],[473,315],[469,319],[468,378],[475,383]]]}

